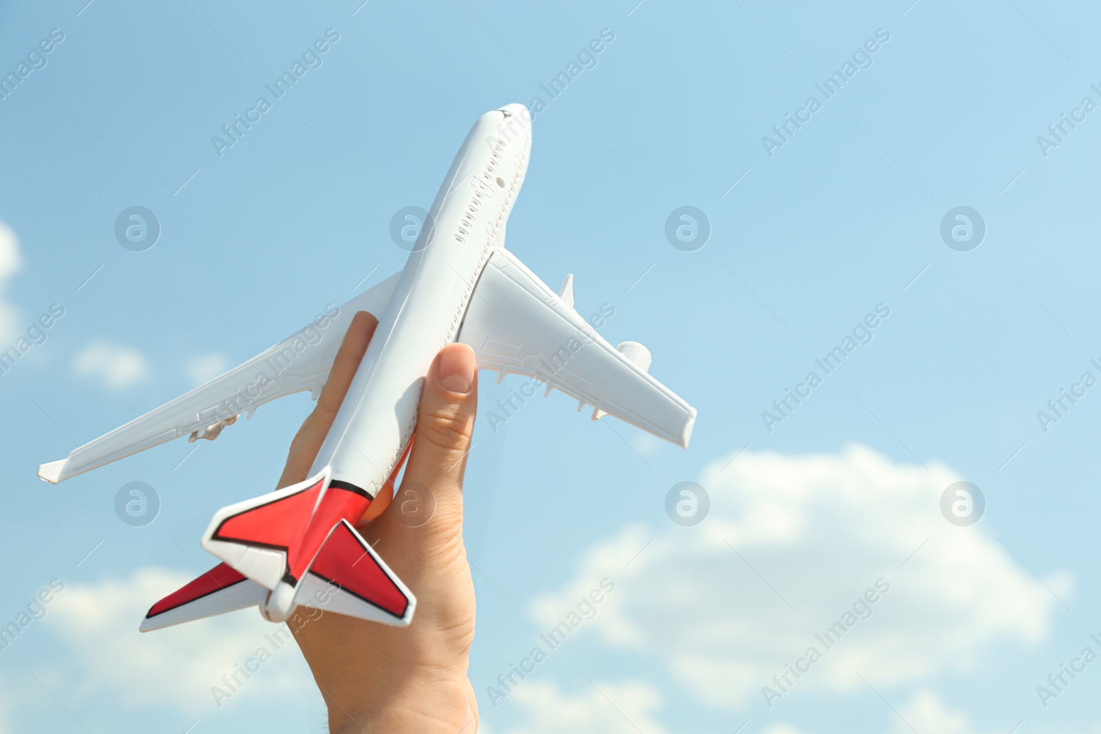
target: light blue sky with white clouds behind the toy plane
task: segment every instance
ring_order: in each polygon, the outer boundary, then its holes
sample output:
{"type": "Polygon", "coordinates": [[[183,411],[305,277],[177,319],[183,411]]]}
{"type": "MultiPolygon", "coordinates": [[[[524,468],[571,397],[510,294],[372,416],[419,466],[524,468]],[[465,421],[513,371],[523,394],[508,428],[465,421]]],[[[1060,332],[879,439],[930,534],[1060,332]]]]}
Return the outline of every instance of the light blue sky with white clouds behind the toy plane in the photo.
{"type": "MultiPolygon", "coordinates": [[[[0,375],[0,621],[65,587],[0,650],[0,731],[323,731],[294,649],[214,705],[269,631],[259,616],[135,632],[156,593],[212,563],[198,537],[214,511],[274,486],[305,396],[194,453],[177,441],[57,486],[35,468],[400,270],[394,212],[428,206],[480,113],[536,97],[509,249],[552,287],[574,273],[582,315],[611,305],[601,332],[645,343],[699,419],[687,451],[560,394],[479,424],[466,536],[483,730],[1101,727],[1101,664],[1047,706],[1037,693],[1101,653],[1101,388],[1047,430],[1037,418],[1101,379],[1101,111],[1075,112],[1101,103],[1095,8],[84,2],[0,7],[4,74],[64,34],[0,100],[0,348],[64,309],[0,375]],[[219,155],[211,138],[328,29],[320,65],[219,155]],[[541,85],[604,29],[595,66],[550,99],[541,85]],[[816,85],[877,31],[825,99],[816,85]],[[820,109],[766,145],[810,96],[820,109]],[[1045,151],[1064,114],[1084,120],[1045,151]],[[144,252],[115,237],[133,206],[161,227],[144,252]],[[665,237],[683,206],[711,228],[691,252],[665,237]],[[985,224],[968,251],[940,235],[961,206],[985,224]],[[762,413],[880,304],[871,341],[770,430],[762,413]],[[161,502],[144,527],[115,514],[133,481],[161,502]],[[711,496],[695,527],[665,514],[682,481],[711,496]],[[940,514],[955,481],[985,497],[974,525],[940,514]],[[494,706],[497,676],[603,578],[615,591],[592,620],[494,706]],[[768,706],[772,675],[880,578],[874,613],[768,706]]],[[[509,387],[491,382],[483,406],[509,387]]]]}

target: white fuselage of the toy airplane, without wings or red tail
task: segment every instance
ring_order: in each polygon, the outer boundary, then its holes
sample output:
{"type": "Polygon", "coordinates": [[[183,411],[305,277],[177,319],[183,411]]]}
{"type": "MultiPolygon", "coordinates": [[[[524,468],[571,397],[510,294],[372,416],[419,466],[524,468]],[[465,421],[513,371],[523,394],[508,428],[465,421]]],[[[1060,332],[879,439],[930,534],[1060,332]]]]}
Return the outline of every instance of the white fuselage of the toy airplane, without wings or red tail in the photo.
{"type": "Polygon", "coordinates": [[[487,112],[470,130],[309,475],[329,467],[333,480],[371,497],[390,476],[416,428],[428,368],[455,341],[486,262],[504,245],[531,142],[523,105],[487,112]]]}

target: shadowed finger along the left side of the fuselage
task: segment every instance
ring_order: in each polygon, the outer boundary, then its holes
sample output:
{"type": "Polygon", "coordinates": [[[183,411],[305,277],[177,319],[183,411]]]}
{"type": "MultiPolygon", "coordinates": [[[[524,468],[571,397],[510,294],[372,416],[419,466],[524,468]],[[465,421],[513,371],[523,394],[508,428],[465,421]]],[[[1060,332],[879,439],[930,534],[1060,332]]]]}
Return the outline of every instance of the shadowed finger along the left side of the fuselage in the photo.
{"type": "Polygon", "coordinates": [[[280,478],[276,489],[297,484],[306,479],[309,467],[313,465],[317,452],[325,442],[325,437],[333,426],[337,410],[348,394],[352,377],[363,361],[363,353],[367,346],[374,336],[374,329],[379,326],[379,319],[368,311],[359,311],[351,319],[351,325],[345,333],[344,341],[337,350],[336,359],[333,361],[333,369],[321,388],[321,395],[317,398],[317,405],[313,412],[306,416],[294,440],[291,441],[291,451],[286,458],[286,467],[280,478]]]}

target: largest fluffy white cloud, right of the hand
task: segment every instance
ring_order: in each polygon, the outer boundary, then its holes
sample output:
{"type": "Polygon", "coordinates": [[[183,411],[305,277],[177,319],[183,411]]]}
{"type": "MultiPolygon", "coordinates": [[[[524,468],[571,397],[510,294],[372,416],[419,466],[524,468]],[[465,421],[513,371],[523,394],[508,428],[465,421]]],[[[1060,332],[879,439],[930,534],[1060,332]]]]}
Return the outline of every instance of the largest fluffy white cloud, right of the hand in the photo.
{"type": "MultiPolygon", "coordinates": [[[[764,702],[762,687],[811,646],[821,659],[789,678],[785,695],[853,692],[858,673],[876,686],[924,683],[973,670],[992,646],[1047,636],[1058,602],[988,535],[988,521],[941,517],[940,494],[959,480],[947,467],[894,463],[861,446],[746,452],[723,471],[728,461],[704,472],[702,524],[629,527],[590,548],[571,581],[536,600],[541,623],[557,623],[608,577],[615,592],[576,634],[650,654],[698,700],[733,709],[764,702]],[[844,621],[877,579],[890,591],[827,649],[816,633],[844,621]]],[[[1045,582],[1067,599],[1069,576],[1045,582]]]]}

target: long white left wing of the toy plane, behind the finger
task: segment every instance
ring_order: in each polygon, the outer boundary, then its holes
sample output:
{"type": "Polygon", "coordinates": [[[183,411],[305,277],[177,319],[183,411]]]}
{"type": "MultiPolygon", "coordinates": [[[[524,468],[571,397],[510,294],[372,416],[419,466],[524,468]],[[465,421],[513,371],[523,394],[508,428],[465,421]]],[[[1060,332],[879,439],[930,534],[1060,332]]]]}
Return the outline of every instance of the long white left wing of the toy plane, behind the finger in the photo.
{"type": "Polygon", "coordinates": [[[396,282],[397,274],[319,317],[326,326],[315,320],[183,397],[74,449],[61,461],[42,464],[39,476],[56,484],[181,436],[214,440],[241,413],[251,418],[259,406],[292,393],[308,390],[316,399],[356,311],[381,316],[396,282]]]}

